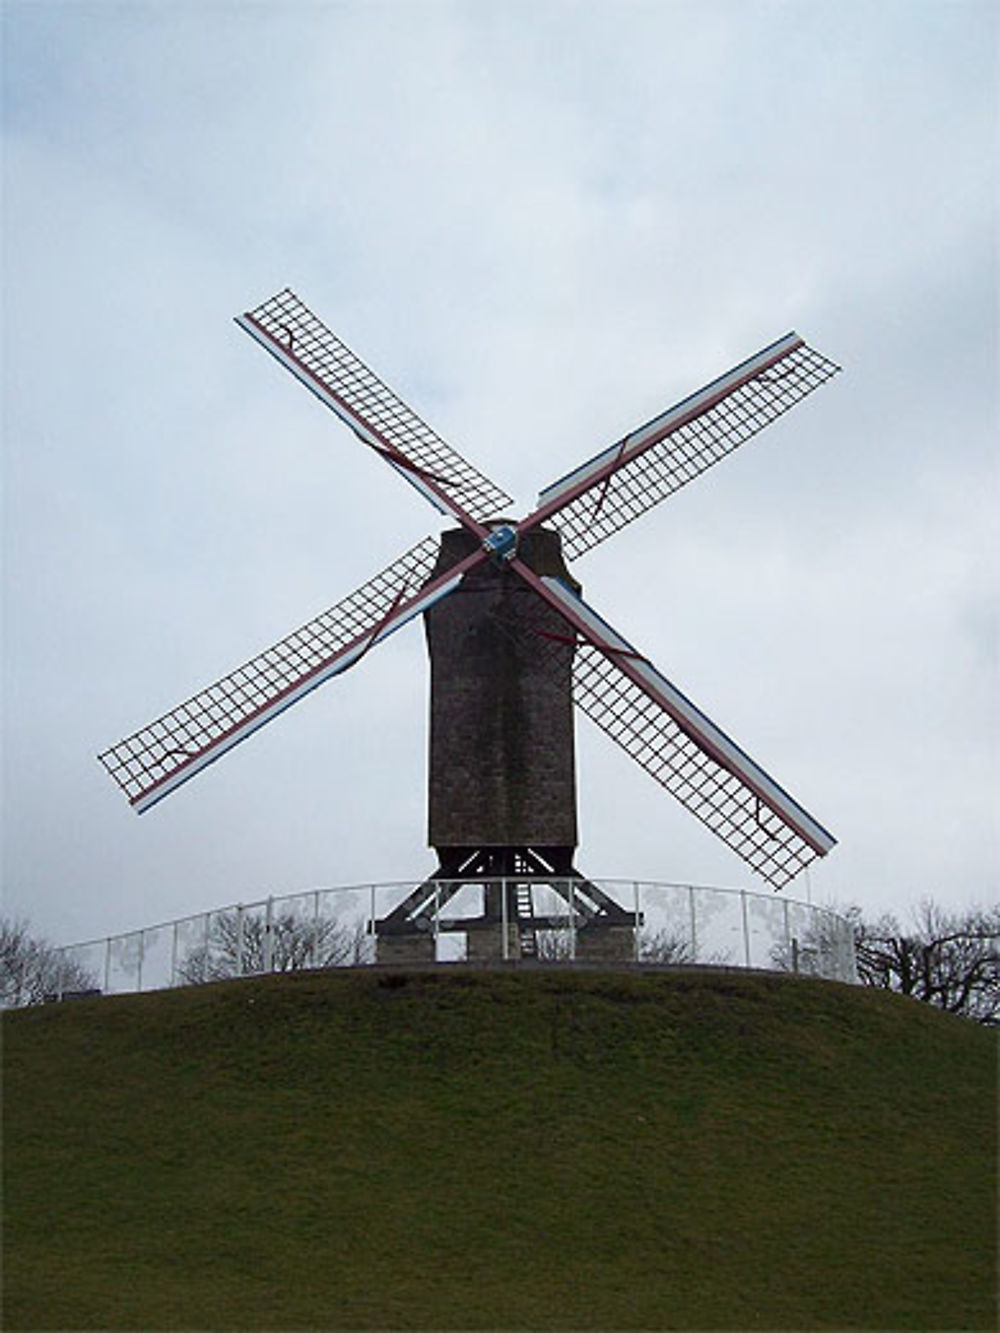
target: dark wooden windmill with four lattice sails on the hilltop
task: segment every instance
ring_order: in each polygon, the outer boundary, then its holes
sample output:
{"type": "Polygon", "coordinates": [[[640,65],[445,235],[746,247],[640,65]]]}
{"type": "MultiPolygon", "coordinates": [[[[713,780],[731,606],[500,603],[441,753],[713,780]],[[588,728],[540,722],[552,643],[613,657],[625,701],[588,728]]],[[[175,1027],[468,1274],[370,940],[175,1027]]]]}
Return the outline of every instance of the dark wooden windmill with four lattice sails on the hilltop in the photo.
{"type": "Polygon", "coordinates": [[[236,323],[456,527],[100,754],[137,812],[423,616],[439,866],[376,922],[381,957],[432,957],[441,893],[469,884],[481,913],[452,924],[471,956],[476,940],[496,952],[501,922],[516,952],[533,952],[536,930],[555,924],[536,912],[540,884],[569,894],[595,954],[621,948],[635,918],[573,865],[572,704],[775,889],[829,852],[823,825],[583,600],[564,561],[732,453],[837,365],[788,333],[547,487],[515,520],[511,497],[293,292],[236,323]]]}

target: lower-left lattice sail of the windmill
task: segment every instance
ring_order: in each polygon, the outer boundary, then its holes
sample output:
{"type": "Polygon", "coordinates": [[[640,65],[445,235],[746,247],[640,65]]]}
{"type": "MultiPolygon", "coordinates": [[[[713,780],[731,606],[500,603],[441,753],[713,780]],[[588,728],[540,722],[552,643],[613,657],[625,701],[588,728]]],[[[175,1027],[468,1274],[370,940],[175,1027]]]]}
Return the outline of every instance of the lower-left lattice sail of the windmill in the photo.
{"type": "MultiPolygon", "coordinates": [[[[424,537],[329,611],[97,758],[132,805],[140,812],[148,809],[427,609],[433,596],[416,599],[408,615],[393,617],[408,592],[427,587],[436,560],[437,539],[424,537]]],[[[443,583],[436,596],[445,596],[456,583],[443,583]]]]}

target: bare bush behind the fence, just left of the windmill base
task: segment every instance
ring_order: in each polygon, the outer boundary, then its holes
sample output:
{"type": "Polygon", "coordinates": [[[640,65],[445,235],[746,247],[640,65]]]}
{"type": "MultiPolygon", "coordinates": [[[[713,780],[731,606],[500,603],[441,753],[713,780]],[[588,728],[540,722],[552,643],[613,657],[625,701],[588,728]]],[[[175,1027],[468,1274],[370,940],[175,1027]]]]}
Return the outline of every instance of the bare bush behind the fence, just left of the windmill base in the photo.
{"type": "Polygon", "coordinates": [[[344,968],[371,961],[364,921],[345,925],[336,917],[300,917],[291,909],[265,912],[231,908],[216,912],[205,941],[188,950],[177,966],[187,982],[221,981],[256,972],[300,972],[344,968]]]}

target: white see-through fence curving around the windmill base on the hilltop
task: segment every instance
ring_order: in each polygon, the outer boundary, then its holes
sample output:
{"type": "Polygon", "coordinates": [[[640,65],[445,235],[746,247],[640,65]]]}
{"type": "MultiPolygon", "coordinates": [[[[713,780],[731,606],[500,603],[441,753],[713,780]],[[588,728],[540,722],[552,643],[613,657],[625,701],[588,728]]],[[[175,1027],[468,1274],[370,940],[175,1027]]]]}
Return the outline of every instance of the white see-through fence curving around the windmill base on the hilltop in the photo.
{"type": "MultiPolygon", "coordinates": [[[[575,885],[535,885],[533,962],[589,958],[600,952],[575,906],[575,885]]],[[[855,982],[853,933],[827,908],[748,889],[599,880],[596,884],[629,916],[619,928],[615,961],[761,968],[855,982]],[[636,922],[636,924],[632,924],[636,922]]],[[[81,990],[120,994],[219,981],[225,977],[305,968],[357,966],[380,961],[375,924],[417,888],[415,882],[312,889],[256,902],[235,904],[163,925],[108,936],[59,950],[56,998],[81,990]]],[[[507,904],[508,894],[501,894],[507,904]]],[[[423,917],[427,961],[463,962],[483,957],[463,922],[481,914],[481,885],[432,884],[423,917]],[[443,905],[441,905],[443,904],[443,905]]],[[[517,961],[520,922],[504,918],[496,961],[517,961]]],[[[383,958],[385,954],[383,954],[383,958]]]]}

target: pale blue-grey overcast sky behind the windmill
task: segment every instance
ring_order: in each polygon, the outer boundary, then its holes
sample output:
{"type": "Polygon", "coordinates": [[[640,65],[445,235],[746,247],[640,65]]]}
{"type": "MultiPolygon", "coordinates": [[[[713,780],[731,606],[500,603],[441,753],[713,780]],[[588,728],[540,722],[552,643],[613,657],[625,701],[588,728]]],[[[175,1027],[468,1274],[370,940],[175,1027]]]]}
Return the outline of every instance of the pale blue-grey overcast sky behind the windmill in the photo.
{"type": "MultiPolygon", "coordinates": [[[[839,838],[997,892],[992,0],[4,13],[4,893],[59,942],[428,873],[420,627],[137,817],[95,754],[437,516],[232,323],[291,285],[517,497],[788,329],[844,373],[573,567],[839,838]]],[[[577,722],[593,876],[757,885],[577,722]]]]}

